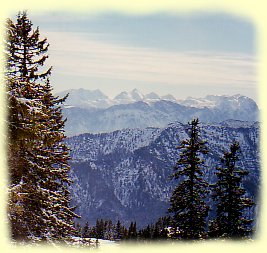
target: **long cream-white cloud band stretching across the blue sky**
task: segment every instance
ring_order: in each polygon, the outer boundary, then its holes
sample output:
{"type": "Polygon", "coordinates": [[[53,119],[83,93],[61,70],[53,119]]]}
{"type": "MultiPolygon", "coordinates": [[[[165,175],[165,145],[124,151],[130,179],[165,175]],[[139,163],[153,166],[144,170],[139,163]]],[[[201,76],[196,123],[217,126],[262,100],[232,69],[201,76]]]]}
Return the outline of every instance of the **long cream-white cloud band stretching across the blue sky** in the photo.
{"type": "Polygon", "coordinates": [[[74,32],[47,32],[50,64],[61,75],[169,85],[256,87],[256,59],[240,53],[168,52],[74,32]]]}

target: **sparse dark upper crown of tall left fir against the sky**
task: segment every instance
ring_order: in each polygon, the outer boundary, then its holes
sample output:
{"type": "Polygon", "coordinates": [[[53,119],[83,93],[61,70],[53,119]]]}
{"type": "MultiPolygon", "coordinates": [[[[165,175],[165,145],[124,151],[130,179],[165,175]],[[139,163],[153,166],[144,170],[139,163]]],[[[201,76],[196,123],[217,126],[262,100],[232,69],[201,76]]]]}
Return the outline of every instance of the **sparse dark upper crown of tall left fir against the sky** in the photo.
{"type": "Polygon", "coordinates": [[[39,28],[32,28],[27,12],[19,13],[17,22],[7,19],[6,23],[6,75],[19,81],[46,79],[52,67],[39,72],[48,58],[47,39],[40,40],[39,28]]]}

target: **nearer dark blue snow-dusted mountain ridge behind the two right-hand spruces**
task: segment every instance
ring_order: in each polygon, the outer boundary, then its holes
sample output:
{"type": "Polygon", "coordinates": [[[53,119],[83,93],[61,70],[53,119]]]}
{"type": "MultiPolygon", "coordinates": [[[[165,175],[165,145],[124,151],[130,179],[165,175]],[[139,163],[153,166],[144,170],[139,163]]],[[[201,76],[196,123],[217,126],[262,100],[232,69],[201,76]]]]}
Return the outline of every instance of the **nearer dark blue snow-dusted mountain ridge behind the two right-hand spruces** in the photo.
{"type": "MultiPolygon", "coordinates": [[[[169,179],[178,159],[176,147],[188,138],[187,126],[175,122],[165,128],[124,129],[111,133],[86,133],[67,138],[71,149],[73,204],[80,222],[97,218],[120,219],[139,226],[166,215],[177,182],[169,179]]],[[[214,169],[232,141],[239,141],[238,166],[249,170],[245,188],[257,200],[260,182],[259,124],[228,120],[203,124],[201,136],[208,141],[205,178],[214,182],[214,169]]]]}

